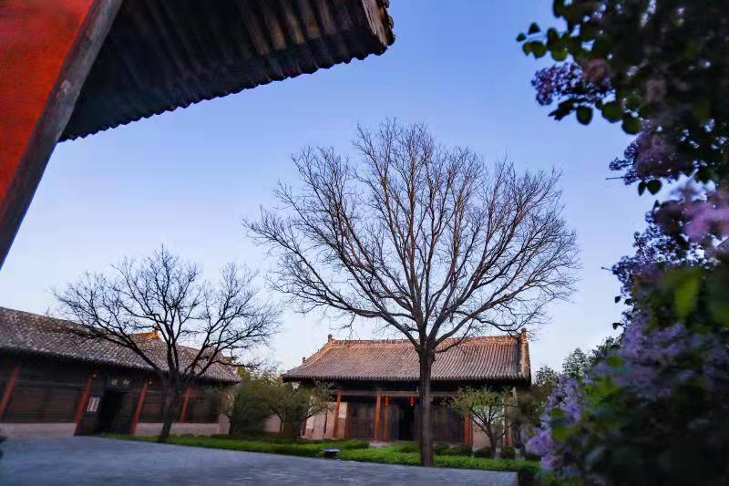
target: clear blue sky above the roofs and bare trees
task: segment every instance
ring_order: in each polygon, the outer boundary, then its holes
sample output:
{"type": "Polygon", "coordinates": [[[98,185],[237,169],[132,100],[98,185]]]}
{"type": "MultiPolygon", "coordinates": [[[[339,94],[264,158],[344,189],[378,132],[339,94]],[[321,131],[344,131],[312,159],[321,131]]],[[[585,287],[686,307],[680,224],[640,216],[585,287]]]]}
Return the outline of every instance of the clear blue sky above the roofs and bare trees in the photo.
{"type": "MultiPolygon", "coordinates": [[[[60,144],[0,271],[0,305],[45,313],[54,286],[160,243],[211,278],[230,261],[265,272],[271,262],[241,218],[274,203],[278,181],[296,181],[291,155],[309,144],[350,152],[357,123],[396,117],[426,122],[443,143],[468,145],[486,160],[563,172],[580,282],[570,302],[552,305],[551,325],[531,345],[532,366],[559,367],[571,349],[611,334],[618,284],[602,267],[631,252],[652,200],[606,181],[609,160],[630,141],[617,126],[558,123],[534,100],[529,82],[545,63],[524,57],[514,39],[533,20],[553,24],[550,5],[397,0],[397,37],[381,57],[60,144]]],[[[265,354],[285,368],[323,346],[336,324],[293,313],[282,323],[265,354]]]]}

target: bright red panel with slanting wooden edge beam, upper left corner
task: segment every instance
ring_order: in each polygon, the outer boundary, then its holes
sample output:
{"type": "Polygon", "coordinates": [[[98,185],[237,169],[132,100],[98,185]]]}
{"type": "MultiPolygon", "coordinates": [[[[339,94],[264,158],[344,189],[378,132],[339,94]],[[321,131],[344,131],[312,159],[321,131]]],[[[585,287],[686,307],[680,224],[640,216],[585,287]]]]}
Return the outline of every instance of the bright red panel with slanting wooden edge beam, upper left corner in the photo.
{"type": "Polygon", "coordinates": [[[0,2],[0,268],[122,1],[0,2]]]}

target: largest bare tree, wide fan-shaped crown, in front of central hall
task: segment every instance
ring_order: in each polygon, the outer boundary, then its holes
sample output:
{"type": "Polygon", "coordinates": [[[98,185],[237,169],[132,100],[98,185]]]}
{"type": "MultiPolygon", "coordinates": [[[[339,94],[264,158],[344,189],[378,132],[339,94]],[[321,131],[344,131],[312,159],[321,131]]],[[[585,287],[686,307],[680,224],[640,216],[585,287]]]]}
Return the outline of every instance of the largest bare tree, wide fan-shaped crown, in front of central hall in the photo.
{"type": "Polygon", "coordinates": [[[420,362],[421,463],[433,464],[430,376],[438,353],[489,328],[515,333],[566,298],[575,234],[559,176],[488,168],[423,125],[359,128],[352,165],[334,149],[293,157],[303,188],[244,226],[278,256],[272,287],[299,310],[334,309],[402,333],[420,362]]]}

